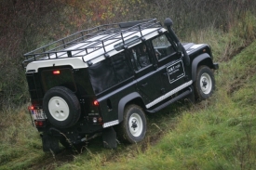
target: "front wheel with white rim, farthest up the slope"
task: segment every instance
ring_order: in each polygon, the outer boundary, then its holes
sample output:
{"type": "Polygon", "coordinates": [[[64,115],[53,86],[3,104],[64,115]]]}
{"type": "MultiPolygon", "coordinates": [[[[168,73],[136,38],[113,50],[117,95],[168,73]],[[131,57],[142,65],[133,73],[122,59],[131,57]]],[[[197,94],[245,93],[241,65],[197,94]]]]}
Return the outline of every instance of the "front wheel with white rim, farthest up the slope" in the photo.
{"type": "Polygon", "coordinates": [[[207,66],[200,66],[195,78],[195,98],[207,99],[215,89],[215,79],[213,72],[207,66]]]}

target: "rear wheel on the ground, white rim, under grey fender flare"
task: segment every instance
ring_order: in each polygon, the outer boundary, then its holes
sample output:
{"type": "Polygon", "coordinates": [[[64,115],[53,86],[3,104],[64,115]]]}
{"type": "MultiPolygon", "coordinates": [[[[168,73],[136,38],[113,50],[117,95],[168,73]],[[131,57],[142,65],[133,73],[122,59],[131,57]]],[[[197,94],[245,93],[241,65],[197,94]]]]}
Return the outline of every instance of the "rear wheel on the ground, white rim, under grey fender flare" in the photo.
{"type": "Polygon", "coordinates": [[[129,105],[124,112],[124,120],[119,124],[117,135],[128,143],[140,142],[146,134],[144,111],[137,105],[129,105]]]}

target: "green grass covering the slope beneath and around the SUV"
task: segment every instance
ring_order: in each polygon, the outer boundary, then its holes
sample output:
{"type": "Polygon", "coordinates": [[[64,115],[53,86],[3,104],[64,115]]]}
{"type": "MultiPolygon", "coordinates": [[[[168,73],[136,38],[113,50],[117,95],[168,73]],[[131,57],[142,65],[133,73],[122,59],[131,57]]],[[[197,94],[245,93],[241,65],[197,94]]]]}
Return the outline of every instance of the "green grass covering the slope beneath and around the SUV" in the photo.
{"type": "Polygon", "coordinates": [[[0,169],[253,169],[256,42],[227,58],[246,44],[234,33],[191,33],[188,42],[209,43],[215,61],[222,61],[215,72],[217,90],[195,105],[178,102],[148,115],[147,137],[137,145],[105,150],[98,137],[82,153],[44,153],[27,106],[0,112],[0,169]]]}

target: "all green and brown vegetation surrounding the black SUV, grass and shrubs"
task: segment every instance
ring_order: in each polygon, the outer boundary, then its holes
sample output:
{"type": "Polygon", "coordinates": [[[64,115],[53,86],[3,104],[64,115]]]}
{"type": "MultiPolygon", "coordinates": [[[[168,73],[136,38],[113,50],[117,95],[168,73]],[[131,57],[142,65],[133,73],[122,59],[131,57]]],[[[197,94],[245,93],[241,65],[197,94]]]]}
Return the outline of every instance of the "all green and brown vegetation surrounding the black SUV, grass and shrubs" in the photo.
{"type": "Polygon", "coordinates": [[[228,4],[221,0],[197,0],[185,6],[189,1],[175,4],[174,0],[134,0],[113,1],[115,4],[98,8],[100,1],[81,4],[74,0],[67,4],[54,0],[49,5],[34,1],[31,6],[20,1],[23,6],[18,4],[16,8],[9,2],[16,1],[4,0],[5,6],[0,7],[2,18],[9,17],[3,22],[7,27],[0,25],[0,169],[256,167],[256,1],[234,0],[228,4]],[[81,7],[74,12],[78,5],[81,7]],[[198,11],[198,6],[205,9],[198,11]],[[57,17],[61,15],[72,17],[57,17]],[[53,16],[58,21],[47,20],[53,16]],[[220,70],[215,72],[217,90],[212,98],[195,105],[178,102],[148,115],[148,134],[138,145],[121,143],[116,150],[106,150],[101,137],[97,137],[83,150],[44,153],[27,112],[29,95],[20,68],[21,55],[91,25],[148,18],[164,20],[169,16],[183,42],[207,43],[212,47],[214,60],[220,63],[220,70]],[[49,24],[51,28],[47,27],[49,24]]]}

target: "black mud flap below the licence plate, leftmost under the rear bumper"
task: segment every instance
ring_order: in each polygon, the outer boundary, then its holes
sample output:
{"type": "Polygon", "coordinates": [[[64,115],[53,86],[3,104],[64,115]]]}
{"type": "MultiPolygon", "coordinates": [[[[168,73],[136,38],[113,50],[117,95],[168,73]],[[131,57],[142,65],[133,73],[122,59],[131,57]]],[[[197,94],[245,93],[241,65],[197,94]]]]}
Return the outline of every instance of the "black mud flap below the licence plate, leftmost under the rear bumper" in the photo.
{"type": "Polygon", "coordinates": [[[45,152],[53,151],[54,153],[56,153],[60,150],[59,139],[57,137],[52,137],[47,134],[43,134],[41,137],[43,142],[43,150],[45,152]]]}

